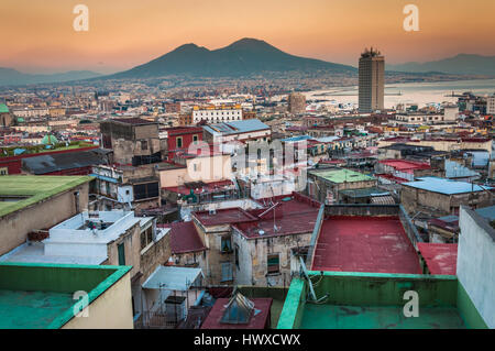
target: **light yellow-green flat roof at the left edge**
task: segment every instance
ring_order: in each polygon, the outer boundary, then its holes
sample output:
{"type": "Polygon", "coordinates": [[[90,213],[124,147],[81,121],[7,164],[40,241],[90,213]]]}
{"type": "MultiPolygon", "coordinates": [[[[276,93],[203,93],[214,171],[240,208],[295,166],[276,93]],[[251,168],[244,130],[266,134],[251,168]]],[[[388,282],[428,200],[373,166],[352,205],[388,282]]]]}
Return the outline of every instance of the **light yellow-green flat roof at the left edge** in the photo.
{"type": "Polygon", "coordinates": [[[94,179],[90,176],[0,176],[0,197],[22,197],[0,200],[0,217],[34,205],[48,197],[94,179]]]}

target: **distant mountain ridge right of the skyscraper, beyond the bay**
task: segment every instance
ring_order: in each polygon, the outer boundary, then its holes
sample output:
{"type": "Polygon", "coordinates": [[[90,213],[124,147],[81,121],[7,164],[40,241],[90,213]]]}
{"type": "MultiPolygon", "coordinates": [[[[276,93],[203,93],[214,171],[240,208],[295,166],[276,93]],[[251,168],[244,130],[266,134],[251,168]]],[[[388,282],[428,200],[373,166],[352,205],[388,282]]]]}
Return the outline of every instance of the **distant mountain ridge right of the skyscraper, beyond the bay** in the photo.
{"type": "Polygon", "coordinates": [[[408,73],[441,72],[459,75],[495,76],[495,56],[459,54],[440,61],[387,65],[387,69],[408,73]]]}

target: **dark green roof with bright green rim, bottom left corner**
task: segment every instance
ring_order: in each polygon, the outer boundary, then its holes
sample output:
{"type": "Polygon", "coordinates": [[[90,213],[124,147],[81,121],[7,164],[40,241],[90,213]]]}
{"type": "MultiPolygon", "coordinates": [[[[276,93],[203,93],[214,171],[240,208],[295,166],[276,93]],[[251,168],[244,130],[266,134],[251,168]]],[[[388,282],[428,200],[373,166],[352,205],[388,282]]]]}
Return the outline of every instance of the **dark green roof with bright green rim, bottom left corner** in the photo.
{"type": "Polygon", "coordinates": [[[75,317],[74,293],[91,304],[131,266],[0,262],[0,329],[57,329],[75,317]]]}

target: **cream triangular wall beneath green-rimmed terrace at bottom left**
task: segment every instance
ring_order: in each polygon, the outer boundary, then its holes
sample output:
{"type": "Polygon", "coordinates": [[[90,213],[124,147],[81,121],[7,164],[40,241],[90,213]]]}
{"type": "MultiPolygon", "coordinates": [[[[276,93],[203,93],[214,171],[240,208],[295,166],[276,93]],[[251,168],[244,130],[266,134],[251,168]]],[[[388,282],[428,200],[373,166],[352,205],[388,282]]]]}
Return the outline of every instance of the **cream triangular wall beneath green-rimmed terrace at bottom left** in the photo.
{"type": "Polygon", "coordinates": [[[62,329],[133,329],[130,274],[98,296],[82,312],[88,312],[88,317],[74,317],[62,329]]]}

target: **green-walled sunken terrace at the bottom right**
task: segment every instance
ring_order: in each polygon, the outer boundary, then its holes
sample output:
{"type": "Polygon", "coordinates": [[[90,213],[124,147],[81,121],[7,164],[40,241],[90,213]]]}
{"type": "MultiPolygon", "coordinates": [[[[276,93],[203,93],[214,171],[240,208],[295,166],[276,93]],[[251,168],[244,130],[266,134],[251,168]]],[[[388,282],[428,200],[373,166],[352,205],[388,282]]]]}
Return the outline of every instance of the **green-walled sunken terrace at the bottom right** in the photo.
{"type": "Polygon", "coordinates": [[[455,276],[309,272],[290,284],[277,329],[465,329],[486,328],[455,276]],[[406,317],[407,290],[419,296],[419,316],[406,317]]]}

